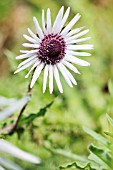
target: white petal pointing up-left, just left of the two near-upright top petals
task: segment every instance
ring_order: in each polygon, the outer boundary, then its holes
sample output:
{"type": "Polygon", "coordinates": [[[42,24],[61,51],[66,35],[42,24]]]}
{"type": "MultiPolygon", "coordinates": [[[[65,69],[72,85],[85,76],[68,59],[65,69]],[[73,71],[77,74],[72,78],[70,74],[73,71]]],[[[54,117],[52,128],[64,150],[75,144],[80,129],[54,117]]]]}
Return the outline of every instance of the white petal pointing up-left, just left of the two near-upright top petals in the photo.
{"type": "Polygon", "coordinates": [[[34,21],[34,24],[35,24],[35,27],[36,27],[36,32],[37,32],[37,34],[39,35],[39,37],[40,37],[41,39],[43,39],[43,38],[44,38],[44,34],[43,34],[43,32],[42,32],[42,29],[40,28],[40,25],[39,25],[36,17],[33,17],[33,21],[34,21]]]}

